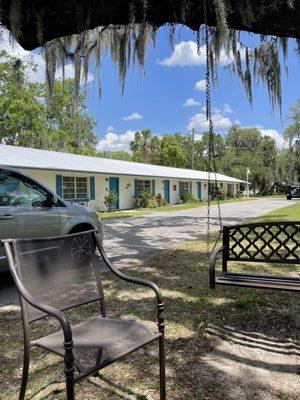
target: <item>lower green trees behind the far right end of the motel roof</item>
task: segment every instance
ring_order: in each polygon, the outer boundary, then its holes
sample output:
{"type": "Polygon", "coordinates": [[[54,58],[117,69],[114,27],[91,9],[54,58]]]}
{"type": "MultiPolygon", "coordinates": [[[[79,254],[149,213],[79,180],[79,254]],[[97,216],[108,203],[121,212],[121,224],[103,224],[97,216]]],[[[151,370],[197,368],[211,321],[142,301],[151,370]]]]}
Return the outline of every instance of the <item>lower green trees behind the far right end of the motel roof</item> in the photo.
{"type": "MultiPolygon", "coordinates": [[[[134,140],[131,145],[135,160],[145,162],[146,154],[148,163],[179,168],[192,167],[191,136],[176,132],[158,137],[147,130],[147,140],[143,140],[142,145],[140,138],[141,133],[137,133],[137,142],[134,140]],[[156,143],[155,152],[152,148],[153,141],[156,143]]],[[[194,169],[209,169],[208,143],[207,132],[194,143],[194,169]]],[[[234,125],[224,137],[216,134],[215,153],[219,173],[246,180],[246,170],[250,167],[252,188],[260,194],[270,193],[280,183],[289,182],[289,153],[286,149],[277,149],[275,141],[269,136],[263,136],[257,128],[234,125]]]]}

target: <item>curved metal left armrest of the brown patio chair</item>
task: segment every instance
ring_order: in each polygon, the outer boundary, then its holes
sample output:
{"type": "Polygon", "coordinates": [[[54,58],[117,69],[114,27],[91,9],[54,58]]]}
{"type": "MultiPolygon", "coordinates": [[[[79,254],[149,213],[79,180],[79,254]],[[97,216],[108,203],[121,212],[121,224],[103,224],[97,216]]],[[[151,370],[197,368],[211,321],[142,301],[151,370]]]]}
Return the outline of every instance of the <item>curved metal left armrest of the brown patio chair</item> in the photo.
{"type": "Polygon", "coordinates": [[[4,251],[5,255],[7,257],[8,265],[10,272],[12,274],[13,280],[17,286],[17,289],[19,293],[21,294],[22,297],[34,308],[37,308],[40,311],[45,312],[46,314],[49,314],[56,318],[63,330],[64,333],[64,340],[65,342],[72,342],[72,329],[69,321],[67,320],[67,317],[65,314],[57,310],[56,308],[48,305],[48,304],[43,304],[39,303],[31,294],[27,291],[27,289],[23,286],[17,272],[16,272],[16,267],[15,267],[15,260],[11,251],[10,243],[8,241],[4,242],[4,251]]]}

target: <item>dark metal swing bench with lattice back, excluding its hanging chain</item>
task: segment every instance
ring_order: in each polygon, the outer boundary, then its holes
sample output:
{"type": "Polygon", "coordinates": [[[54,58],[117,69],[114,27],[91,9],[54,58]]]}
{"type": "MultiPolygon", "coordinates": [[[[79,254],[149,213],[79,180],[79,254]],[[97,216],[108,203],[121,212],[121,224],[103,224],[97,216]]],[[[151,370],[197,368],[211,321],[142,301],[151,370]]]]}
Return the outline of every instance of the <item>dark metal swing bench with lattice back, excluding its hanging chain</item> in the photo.
{"type": "Polygon", "coordinates": [[[245,286],[300,291],[300,273],[293,277],[253,273],[249,263],[300,265],[300,222],[260,222],[223,227],[223,244],[210,257],[210,287],[245,286]],[[216,276],[216,262],[222,258],[222,272],[216,276]],[[235,267],[235,268],[234,268],[235,267]],[[239,272],[235,272],[236,267],[239,272]],[[245,273],[241,273],[240,269],[245,273]],[[250,273],[249,273],[250,272],[250,273]]]}

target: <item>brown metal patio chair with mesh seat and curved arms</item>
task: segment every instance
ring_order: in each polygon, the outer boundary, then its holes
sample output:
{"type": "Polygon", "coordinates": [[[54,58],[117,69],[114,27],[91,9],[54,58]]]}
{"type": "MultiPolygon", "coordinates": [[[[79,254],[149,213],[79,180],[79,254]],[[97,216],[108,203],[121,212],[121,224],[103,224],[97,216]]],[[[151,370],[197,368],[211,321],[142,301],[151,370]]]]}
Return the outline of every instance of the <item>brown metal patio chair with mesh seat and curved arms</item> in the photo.
{"type": "Polygon", "coordinates": [[[24,328],[24,362],[19,399],[25,398],[31,346],[64,360],[67,399],[75,399],[74,383],[155,340],[159,341],[160,399],[165,393],[164,304],[152,282],[130,277],[108,260],[95,231],[45,239],[2,240],[9,268],[20,294],[24,328]],[[95,253],[99,250],[101,257],[95,253]],[[102,261],[101,261],[102,259],[102,261]],[[102,262],[102,266],[100,266],[102,262]],[[106,266],[118,278],[151,288],[157,300],[158,332],[126,319],[106,316],[100,279],[106,266]],[[99,315],[71,325],[63,312],[99,302],[99,315]],[[52,316],[61,330],[31,340],[31,324],[52,316]]]}

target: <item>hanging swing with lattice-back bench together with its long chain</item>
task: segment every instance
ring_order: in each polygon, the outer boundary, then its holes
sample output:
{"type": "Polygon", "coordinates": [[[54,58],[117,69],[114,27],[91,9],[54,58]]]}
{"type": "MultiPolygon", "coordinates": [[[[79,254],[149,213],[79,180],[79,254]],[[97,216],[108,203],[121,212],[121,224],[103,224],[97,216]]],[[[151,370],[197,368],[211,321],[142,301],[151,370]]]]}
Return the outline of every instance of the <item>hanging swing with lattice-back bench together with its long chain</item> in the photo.
{"type": "Polygon", "coordinates": [[[209,259],[210,288],[215,289],[216,285],[227,285],[300,291],[300,274],[296,277],[288,277],[234,272],[236,267],[246,269],[249,263],[300,265],[300,221],[257,222],[223,226],[220,202],[217,198],[220,232],[212,251],[210,250],[211,200],[217,188],[217,171],[214,123],[211,112],[208,33],[208,26],[205,24],[206,119],[209,123],[207,257],[209,259]],[[214,182],[211,181],[212,174],[215,177],[214,182]],[[221,237],[222,246],[217,248],[221,237]],[[222,260],[222,271],[217,276],[216,262],[219,257],[222,260]]]}

